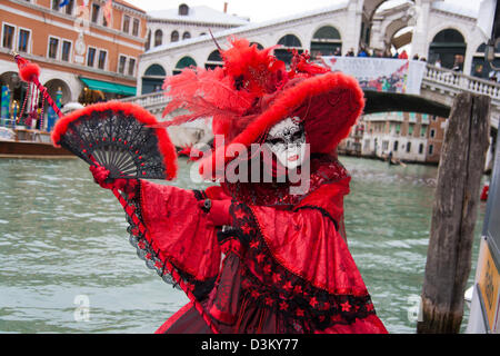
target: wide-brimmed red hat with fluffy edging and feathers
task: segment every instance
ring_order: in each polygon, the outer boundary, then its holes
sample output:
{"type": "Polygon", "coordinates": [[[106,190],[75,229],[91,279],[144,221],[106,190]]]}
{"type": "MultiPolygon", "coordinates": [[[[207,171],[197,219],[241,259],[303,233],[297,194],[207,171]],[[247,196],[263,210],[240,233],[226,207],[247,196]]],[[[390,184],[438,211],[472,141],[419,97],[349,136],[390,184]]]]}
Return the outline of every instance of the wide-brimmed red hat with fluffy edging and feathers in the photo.
{"type": "Polygon", "coordinates": [[[213,134],[224,136],[224,145],[216,141],[212,155],[200,161],[204,178],[219,178],[216,168],[223,167],[216,167],[217,162],[234,159],[232,145],[250,147],[288,117],[301,118],[312,154],[330,154],[349,135],[364,107],[354,78],[331,72],[297,52],[287,71],[284,62],[270,55],[273,48],[259,50],[244,39],[233,39],[231,44],[221,52],[223,68],[184,69],[163,86],[171,98],[166,113],[189,111],[164,126],[211,117],[213,134]]]}

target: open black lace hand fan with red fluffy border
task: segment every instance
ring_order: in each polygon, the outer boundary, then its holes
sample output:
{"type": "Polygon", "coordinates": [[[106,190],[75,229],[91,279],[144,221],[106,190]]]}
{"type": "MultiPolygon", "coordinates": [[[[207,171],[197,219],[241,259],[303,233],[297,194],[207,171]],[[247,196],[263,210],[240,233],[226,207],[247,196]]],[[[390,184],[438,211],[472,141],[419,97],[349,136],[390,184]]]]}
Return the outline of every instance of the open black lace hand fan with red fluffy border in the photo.
{"type": "Polygon", "coordinates": [[[106,167],[110,178],[173,179],[176,149],[166,129],[143,108],[118,101],[98,103],[59,120],[52,142],[89,165],[106,167]]]}

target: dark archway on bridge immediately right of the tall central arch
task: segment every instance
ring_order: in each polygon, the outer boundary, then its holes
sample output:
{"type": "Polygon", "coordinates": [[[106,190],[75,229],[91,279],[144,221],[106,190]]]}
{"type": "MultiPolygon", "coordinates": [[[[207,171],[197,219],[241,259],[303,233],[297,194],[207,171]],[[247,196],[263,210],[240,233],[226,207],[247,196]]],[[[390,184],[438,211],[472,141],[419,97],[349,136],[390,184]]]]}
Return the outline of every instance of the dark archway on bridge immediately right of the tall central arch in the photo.
{"type": "Polygon", "coordinates": [[[466,56],[467,43],[462,33],[456,29],[444,29],[438,32],[429,46],[428,61],[436,63],[441,61],[441,67],[458,67],[459,71],[463,71],[463,58],[466,56]]]}

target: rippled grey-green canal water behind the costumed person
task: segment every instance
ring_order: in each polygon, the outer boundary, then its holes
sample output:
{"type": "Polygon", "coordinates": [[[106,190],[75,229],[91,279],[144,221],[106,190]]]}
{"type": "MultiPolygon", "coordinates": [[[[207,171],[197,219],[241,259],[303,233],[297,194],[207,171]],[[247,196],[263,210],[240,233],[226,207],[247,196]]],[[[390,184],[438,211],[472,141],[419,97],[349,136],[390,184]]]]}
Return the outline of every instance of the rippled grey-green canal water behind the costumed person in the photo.
{"type": "MultiPolygon", "coordinates": [[[[341,161],[352,176],[350,250],[389,332],[412,334],[438,169],[341,161]]],[[[189,169],[181,161],[174,184],[202,188],[189,169]]],[[[0,160],[0,333],[154,332],[187,298],[137,257],[126,229],[118,201],[81,160],[0,160]]]]}

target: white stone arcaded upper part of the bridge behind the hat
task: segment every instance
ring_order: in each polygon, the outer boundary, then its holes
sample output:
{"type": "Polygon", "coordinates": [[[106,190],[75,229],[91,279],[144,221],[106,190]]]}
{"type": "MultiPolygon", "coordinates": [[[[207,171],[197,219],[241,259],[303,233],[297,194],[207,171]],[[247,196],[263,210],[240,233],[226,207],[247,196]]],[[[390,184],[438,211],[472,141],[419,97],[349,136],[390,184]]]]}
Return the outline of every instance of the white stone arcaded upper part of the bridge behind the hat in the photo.
{"type": "MultiPolygon", "coordinates": [[[[358,52],[362,47],[384,52],[411,43],[412,53],[409,56],[417,53],[431,63],[440,59],[447,68],[453,67],[459,58],[458,65],[467,75],[480,65],[478,53],[488,36],[478,26],[477,10],[439,0],[407,1],[389,9],[383,7],[384,2],[339,1],[326,8],[260,23],[243,23],[213,33],[222,47],[227,46],[227,39],[231,36],[244,37],[261,47],[281,44],[274,53],[286,61],[290,58],[287,51],[290,49],[308,50],[313,56],[330,56],[337,52],[346,55],[350,49],[358,52]],[[399,36],[399,31],[406,28],[411,30],[409,34],[399,36]]],[[[181,18],[179,14],[177,17],[181,18]]],[[[151,21],[153,30],[154,22],[151,21]]],[[[210,36],[193,37],[196,33],[207,33],[208,29],[207,26],[192,30],[189,39],[168,42],[168,38],[163,38],[162,46],[150,44],[150,50],[139,63],[138,92],[151,90],[148,86],[142,88],[144,78],[171,76],[186,66],[218,65],[217,46],[210,36]]],[[[151,33],[152,41],[154,36],[151,33]]],[[[171,37],[171,33],[167,34],[171,37]]]]}

